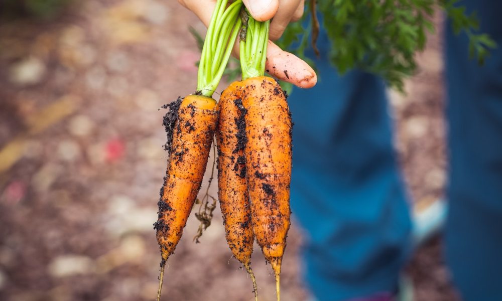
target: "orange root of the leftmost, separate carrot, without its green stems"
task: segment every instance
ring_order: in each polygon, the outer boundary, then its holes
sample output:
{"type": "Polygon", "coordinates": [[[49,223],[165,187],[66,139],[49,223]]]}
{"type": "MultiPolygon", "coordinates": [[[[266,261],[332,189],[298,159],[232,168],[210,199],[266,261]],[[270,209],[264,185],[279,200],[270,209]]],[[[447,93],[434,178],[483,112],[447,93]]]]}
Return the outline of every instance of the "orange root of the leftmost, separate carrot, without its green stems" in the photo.
{"type": "Polygon", "coordinates": [[[216,101],[212,98],[189,95],[177,102],[179,109],[166,124],[171,127],[170,160],[160,191],[158,221],[154,224],[163,261],[174,252],[192,210],[218,120],[216,101]]]}

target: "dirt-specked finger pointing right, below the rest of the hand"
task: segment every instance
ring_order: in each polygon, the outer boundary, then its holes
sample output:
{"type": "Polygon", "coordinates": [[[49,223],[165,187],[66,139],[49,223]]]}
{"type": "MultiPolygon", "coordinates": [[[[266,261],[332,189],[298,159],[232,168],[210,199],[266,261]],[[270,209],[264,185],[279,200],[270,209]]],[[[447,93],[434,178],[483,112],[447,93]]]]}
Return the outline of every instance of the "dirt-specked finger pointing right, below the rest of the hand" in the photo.
{"type": "Polygon", "coordinates": [[[306,62],[269,41],[265,70],[270,75],[300,88],[312,88],[317,75],[306,62]]]}

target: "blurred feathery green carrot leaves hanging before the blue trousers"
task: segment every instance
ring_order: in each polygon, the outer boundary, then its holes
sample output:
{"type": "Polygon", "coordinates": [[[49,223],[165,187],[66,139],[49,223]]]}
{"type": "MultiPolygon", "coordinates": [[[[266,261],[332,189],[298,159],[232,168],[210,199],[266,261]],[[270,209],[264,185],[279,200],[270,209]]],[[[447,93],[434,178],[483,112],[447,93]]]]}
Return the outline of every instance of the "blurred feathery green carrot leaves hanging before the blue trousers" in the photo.
{"type": "MultiPolygon", "coordinates": [[[[313,0],[308,0],[308,2],[313,0]]],[[[434,32],[432,16],[440,6],[452,20],[456,33],[469,38],[469,52],[480,63],[496,44],[486,34],[475,33],[479,23],[474,13],[467,15],[459,0],[318,0],[317,14],[331,43],[329,59],[338,72],[360,68],[382,76],[392,87],[403,90],[403,79],[412,75],[415,53],[424,49],[427,32],[434,32]]],[[[306,12],[286,29],[280,46],[305,58],[311,25],[306,12]]]]}

